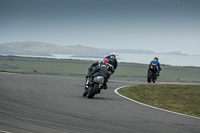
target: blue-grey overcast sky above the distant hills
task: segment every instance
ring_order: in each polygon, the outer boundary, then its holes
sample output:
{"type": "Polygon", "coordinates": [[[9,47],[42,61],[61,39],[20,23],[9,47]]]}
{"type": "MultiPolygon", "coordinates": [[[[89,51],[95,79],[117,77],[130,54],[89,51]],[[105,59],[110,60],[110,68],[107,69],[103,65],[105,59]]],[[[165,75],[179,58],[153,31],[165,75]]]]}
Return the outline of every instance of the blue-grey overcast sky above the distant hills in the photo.
{"type": "Polygon", "coordinates": [[[0,44],[16,41],[200,55],[200,1],[0,0],[0,44]]]}

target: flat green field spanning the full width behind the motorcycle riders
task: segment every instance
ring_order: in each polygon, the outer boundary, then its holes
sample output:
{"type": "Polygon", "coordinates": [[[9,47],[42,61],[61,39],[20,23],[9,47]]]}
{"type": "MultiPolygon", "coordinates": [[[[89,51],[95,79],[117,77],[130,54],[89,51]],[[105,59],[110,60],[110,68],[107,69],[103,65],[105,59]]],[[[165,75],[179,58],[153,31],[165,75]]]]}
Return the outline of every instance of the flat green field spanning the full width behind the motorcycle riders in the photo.
{"type": "MultiPolygon", "coordinates": [[[[95,61],[0,56],[0,70],[28,74],[84,77],[95,61]]],[[[162,65],[158,82],[200,83],[200,67],[162,65]]],[[[112,79],[146,82],[148,64],[118,63],[112,79]]]]}

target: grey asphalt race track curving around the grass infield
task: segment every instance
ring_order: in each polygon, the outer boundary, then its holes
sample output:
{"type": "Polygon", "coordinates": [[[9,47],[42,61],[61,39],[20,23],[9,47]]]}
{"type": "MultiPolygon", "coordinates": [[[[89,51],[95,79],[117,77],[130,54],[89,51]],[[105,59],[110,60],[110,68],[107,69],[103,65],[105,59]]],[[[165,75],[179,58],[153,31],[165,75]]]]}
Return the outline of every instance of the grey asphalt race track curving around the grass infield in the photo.
{"type": "Polygon", "coordinates": [[[114,93],[138,82],[112,81],[93,99],[84,78],[0,73],[0,133],[199,133],[200,119],[156,110],[114,93]]]}

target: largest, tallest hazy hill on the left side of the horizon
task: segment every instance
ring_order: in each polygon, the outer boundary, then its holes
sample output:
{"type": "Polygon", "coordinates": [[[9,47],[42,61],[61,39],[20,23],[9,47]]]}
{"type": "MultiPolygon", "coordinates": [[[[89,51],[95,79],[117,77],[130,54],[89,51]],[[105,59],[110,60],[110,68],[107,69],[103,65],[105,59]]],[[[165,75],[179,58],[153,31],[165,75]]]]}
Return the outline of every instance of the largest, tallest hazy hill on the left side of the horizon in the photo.
{"type": "Polygon", "coordinates": [[[101,50],[82,45],[60,46],[43,42],[12,42],[0,44],[0,54],[11,55],[50,55],[50,54],[87,54],[101,53],[101,50]]]}

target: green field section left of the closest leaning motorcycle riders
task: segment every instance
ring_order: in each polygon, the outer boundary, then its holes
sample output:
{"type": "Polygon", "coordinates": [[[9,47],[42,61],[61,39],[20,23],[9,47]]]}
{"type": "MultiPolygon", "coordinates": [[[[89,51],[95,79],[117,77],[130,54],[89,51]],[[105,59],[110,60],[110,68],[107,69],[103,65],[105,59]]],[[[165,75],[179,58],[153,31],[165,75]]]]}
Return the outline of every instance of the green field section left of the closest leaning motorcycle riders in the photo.
{"type": "Polygon", "coordinates": [[[92,62],[47,58],[1,57],[0,70],[27,74],[82,77],[92,62]]]}

